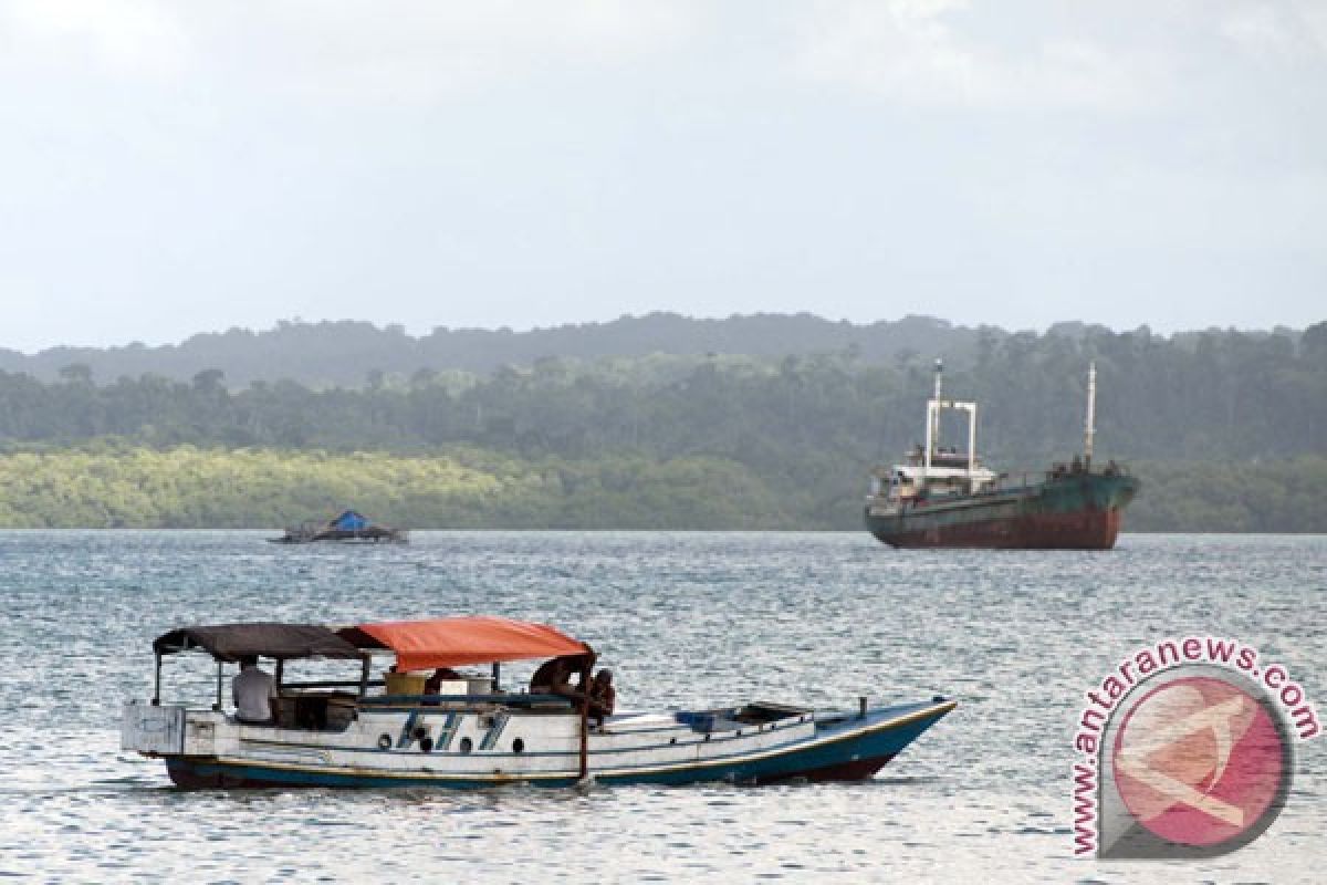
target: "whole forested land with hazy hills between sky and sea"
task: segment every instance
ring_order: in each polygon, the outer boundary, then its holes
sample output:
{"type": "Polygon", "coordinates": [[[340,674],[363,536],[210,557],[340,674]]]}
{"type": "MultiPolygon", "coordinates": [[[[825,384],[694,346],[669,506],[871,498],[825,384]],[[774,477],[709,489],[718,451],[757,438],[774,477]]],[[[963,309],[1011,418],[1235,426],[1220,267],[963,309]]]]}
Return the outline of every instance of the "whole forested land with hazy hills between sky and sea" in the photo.
{"type": "Polygon", "coordinates": [[[1327,322],[809,314],[0,350],[0,527],[271,528],[354,506],[419,529],[857,529],[937,356],[1014,471],[1076,450],[1095,360],[1097,451],[1145,483],[1127,531],[1327,531],[1327,322]]]}

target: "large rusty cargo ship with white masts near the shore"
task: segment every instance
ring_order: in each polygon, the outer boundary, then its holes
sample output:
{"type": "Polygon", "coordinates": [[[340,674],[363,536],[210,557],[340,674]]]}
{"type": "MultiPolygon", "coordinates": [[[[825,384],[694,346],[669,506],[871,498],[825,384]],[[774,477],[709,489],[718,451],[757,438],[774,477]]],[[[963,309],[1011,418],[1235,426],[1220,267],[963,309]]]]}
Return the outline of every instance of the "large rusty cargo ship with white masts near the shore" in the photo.
{"type": "Polygon", "coordinates": [[[1083,454],[1035,482],[1014,480],[977,456],[977,403],[943,398],[943,365],[926,402],[926,443],[901,464],[872,470],[867,528],[890,547],[1091,549],[1115,547],[1139,480],[1108,462],[1092,464],[1096,365],[1088,368],[1083,454]],[[946,411],[967,419],[967,451],[940,444],[946,411]]]}

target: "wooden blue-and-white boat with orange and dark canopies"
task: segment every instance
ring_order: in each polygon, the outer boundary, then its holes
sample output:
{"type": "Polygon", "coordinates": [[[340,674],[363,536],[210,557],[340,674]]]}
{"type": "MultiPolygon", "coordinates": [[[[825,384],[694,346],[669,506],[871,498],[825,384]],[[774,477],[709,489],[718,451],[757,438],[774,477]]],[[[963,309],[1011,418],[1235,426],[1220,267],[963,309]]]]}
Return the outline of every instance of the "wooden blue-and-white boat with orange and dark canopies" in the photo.
{"type": "MultiPolygon", "coordinates": [[[[121,747],[163,759],[180,787],[453,787],[511,783],[763,784],[865,780],[954,709],[926,702],[827,713],[788,703],[592,715],[589,694],[504,691],[500,662],[557,659],[588,677],[589,645],[552,626],[498,617],[360,624],[228,624],[171,630],[153,642],[155,689],[130,701],[121,747]],[[162,658],[200,651],[216,665],[211,706],[165,702],[162,658]],[[272,719],[226,711],[223,670],[276,662],[272,719]],[[394,655],[384,681],[370,659],[394,655]],[[345,681],[289,682],[295,661],[354,665],[345,681]],[[492,675],[450,667],[491,665],[492,675]],[[425,674],[438,670],[430,690],[425,674]],[[378,685],[384,694],[370,693],[378,685]]],[[[324,665],[325,666],[325,665],[324,665]]],[[[543,669],[536,671],[536,678],[543,669]]],[[[196,679],[191,681],[198,685],[196,679]]],[[[600,711],[602,713],[602,711],[600,711]]]]}

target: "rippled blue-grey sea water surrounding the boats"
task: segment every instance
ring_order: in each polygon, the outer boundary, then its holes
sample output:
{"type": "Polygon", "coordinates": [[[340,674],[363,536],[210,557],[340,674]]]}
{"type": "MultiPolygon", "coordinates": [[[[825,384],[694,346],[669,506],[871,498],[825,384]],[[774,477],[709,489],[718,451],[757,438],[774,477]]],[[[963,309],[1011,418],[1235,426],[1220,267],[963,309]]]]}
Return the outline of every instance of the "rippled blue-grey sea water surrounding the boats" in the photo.
{"type": "MultiPolygon", "coordinates": [[[[900,552],[864,533],[0,532],[0,874],[33,881],[1322,881],[1327,739],[1247,848],[1074,860],[1083,691],[1162,637],[1237,637],[1327,711],[1327,537],[1124,536],[1109,553],[900,552]],[[118,750],[178,625],[496,613],[594,645],[624,709],[941,693],[869,783],[179,792],[118,750]]],[[[167,682],[195,659],[167,665],[167,682]]],[[[515,673],[512,675],[519,675],[515,673]]],[[[170,691],[167,691],[170,697],[170,691]]],[[[199,697],[206,701],[206,694],[199,697]]]]}

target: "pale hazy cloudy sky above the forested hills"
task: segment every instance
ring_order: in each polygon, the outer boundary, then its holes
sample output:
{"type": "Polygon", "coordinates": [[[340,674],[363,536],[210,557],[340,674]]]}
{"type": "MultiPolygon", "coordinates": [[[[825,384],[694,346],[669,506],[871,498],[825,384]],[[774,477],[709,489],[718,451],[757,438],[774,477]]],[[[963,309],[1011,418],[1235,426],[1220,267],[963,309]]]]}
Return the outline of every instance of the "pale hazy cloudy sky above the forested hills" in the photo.
{"type": "Polygon", "coordinates": [[[0,0],[0,348],[1327,318],[1327,3],[0,0]]]}

